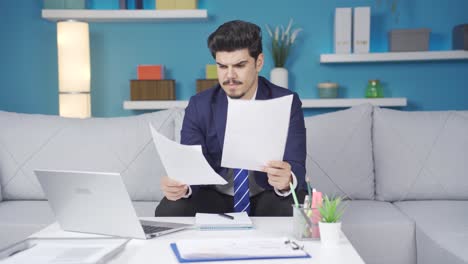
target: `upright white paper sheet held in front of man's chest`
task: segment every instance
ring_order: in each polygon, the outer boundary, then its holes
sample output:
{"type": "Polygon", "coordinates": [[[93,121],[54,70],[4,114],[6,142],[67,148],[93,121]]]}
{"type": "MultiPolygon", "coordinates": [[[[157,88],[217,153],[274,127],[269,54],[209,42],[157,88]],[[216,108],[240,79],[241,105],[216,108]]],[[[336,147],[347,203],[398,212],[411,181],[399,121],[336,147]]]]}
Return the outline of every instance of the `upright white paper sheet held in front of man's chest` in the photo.
{"type": "Polygon", "coordinates": [[[283,160],[292,99],[229,99],[221,166],[262,171],[269,161],[283,160]]]}

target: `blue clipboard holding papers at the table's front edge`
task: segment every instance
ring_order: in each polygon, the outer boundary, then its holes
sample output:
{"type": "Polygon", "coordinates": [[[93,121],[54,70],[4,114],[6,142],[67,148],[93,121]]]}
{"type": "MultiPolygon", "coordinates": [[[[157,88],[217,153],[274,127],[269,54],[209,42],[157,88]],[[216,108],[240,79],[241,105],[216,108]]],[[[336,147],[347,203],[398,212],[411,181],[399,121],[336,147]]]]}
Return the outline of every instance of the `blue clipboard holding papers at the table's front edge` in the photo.
{"type": "MultiPolygon", "coordinates": [[[[209,241],[210,240],[194,240],[194,243],[198,243],[198,244],[199,243],[204,243],[204,242],[210,243],[209,241]]],[[[223,242],[220,242],[220,241],[221,240],[213,240],[213,242],[211,242],[211,243],[218,244],[218,246],[219,246],[220,243],[221,244],[223,243],[223,242]]],[[[279,245],[278,241],[279,241],[279,239],[263,239],[263,240],[258,240],[258,241],[250,240],[249,242],[246,242],[246,243],[249,243],[249,246],[255,247],[256,243],[267,243],[267,242],[273,242],[273,243],[276,243],[276,245],[279,245]]],[[[280,255],[278,255],[278,254],[269,255],[268,252],[266,254],[262,254],[261,249],[259,250],[258,248],[255,248],[255,249],[253,249],[253,251],[258,252],[258,254],[249,254],[249,255],[244,255],[243,256],[242,254],[240,254],[240,255],[229,254],[229,253],[224,254],[223,252],[217,251],[216,253],[212,253],[212,254],[205,254],[203,252],[200,252],[200,254],[197,255],[197,256],[192,255],[192,256],[184,257],[183,254],[181,253],[181,248],[180,248],[180,245],[178,245],[178,243],[171,243],[170,247],[171,247],[172,251],[174,252],[174,255],[176,256],[177,261],[179,263],[210,262],[210,261],[262,260],[262,259],[311,258],[309,253],[304,251],[303,247],[299,246],[296,242],[294,242],[294,241],[291,242],[291,240],[289,240],[289,239],[287,239],[287,240],[280,239],[280,241],[283,244],[282,247],[286,247],[286,248],[291,249],[290,252],[294,252],[294,254],[285,253],[284,255],[281,255],[281,254],[280,255]]],[[[181,242],[179,242],[179,244],[181,244],[181,242]]],[[[242,243],[242,242],[237,242],[237,243],[242,243]]],[[[227,248],[226,247],[224,252],[231,252],[233,250],[235,251],[235,249],[233,249],[233,248],[227,248]]]]}

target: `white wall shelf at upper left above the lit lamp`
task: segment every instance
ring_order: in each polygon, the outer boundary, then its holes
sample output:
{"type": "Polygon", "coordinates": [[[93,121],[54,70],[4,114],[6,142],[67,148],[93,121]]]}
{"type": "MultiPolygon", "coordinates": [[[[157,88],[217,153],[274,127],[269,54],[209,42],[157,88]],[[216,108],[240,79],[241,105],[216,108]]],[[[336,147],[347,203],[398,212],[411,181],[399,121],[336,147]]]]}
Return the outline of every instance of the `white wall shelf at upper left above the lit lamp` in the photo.
{"type": "Polygon", "coordinates": [[[174,20],[206,20],[206,9],[180,10],[91,10],[43,9],[42,18],[56,22],[78,20],[86,22],[150,22],[174,20]]]}

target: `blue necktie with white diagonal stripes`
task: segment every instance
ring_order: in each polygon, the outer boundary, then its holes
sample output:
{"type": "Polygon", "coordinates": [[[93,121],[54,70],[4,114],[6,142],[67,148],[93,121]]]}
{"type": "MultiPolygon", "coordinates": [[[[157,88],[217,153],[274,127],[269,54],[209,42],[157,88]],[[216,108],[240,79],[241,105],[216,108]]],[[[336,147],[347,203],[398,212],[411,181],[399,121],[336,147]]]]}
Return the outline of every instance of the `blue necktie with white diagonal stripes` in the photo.
{"type": "Polygon", "coordinates": [[[249,171],[234,169],[234,212],[250,213],[249,171]]]}

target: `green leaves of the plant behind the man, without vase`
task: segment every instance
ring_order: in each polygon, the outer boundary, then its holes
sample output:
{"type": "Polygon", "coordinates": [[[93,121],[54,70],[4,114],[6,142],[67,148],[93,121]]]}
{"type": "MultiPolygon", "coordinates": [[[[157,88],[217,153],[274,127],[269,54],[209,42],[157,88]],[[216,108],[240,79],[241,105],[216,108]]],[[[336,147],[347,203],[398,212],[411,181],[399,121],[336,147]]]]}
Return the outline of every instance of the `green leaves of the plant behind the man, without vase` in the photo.
{"type": "Polygon", "coordinates": [[[273,32],[271,28],[266,25],[268,35],[271,38],[271,54],[273,55],[273,61],[275,67],[284,67],[286,60],[288,59],[291,47],[294,45],[299,32],[302,28],[293,29],[293,20],[289,20],[289,24],[286,28],[282,25],[276,26],[273,32]]]}

